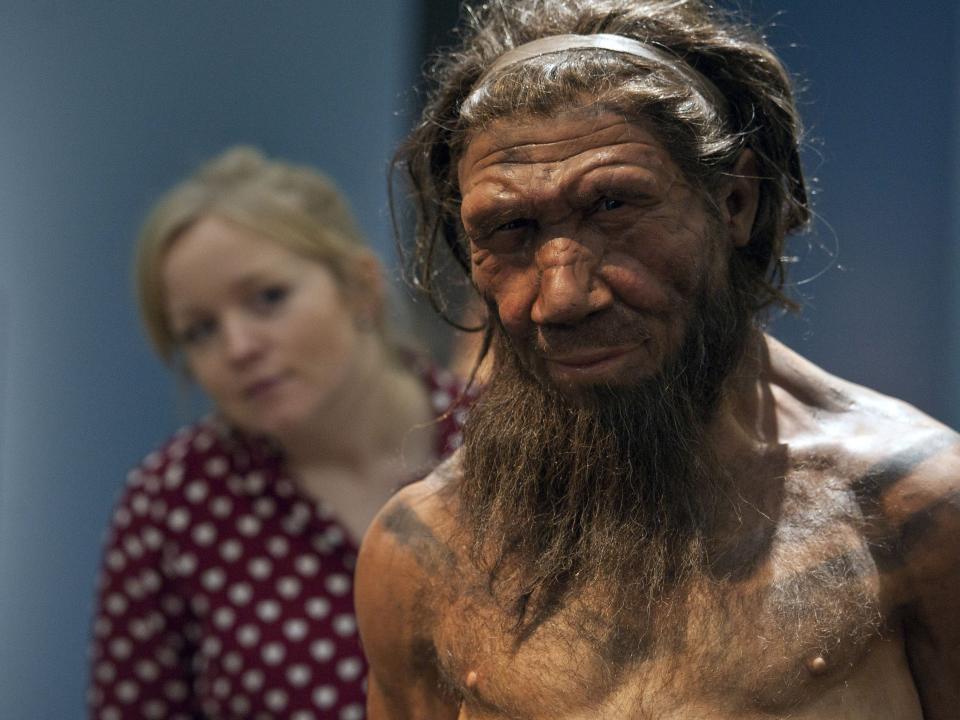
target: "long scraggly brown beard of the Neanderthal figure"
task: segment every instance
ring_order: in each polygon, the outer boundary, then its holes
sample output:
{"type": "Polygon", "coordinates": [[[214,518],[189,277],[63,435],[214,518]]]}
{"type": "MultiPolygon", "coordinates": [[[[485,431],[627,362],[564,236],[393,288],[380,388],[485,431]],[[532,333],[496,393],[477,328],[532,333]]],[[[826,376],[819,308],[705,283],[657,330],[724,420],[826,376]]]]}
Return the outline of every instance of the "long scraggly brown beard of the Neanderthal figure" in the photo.
{"type": "Polygon", "coordinates": [[[735,290],[702,293],[681,348],[630,387],[562,392],[504,331],[464,432],[460,512],[518,639],[573,596],[649,612],[703,568],[723,481],[706,429],[751,327],[735,290]]]}

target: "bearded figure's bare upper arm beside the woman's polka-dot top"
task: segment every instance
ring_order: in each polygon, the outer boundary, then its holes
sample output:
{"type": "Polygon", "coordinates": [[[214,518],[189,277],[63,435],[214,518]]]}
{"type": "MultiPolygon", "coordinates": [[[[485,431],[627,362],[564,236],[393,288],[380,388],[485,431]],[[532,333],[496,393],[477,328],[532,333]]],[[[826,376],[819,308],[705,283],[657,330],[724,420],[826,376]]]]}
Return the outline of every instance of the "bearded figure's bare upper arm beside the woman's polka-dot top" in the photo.
{"type": "MultiPolygon", "coordinates": [[[[370,720],[453,720],[433,641],[438,578],[451,563],[421,517],[423,483],[395,496],[367,531],[356,573],[356,610],[370,663],[370,720]]],[[[442,593],[440,593],[442,595],[442,593]]]]}

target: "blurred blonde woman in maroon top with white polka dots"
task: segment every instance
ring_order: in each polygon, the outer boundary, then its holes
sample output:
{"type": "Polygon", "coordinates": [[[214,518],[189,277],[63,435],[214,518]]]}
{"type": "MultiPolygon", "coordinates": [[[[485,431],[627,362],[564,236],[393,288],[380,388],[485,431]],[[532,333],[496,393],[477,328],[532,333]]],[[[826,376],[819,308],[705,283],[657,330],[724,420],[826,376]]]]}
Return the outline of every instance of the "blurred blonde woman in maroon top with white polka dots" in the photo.
{"type": "Polygon", "coordinates": [[[333,184],[255,150],[161,199],[136,279],[153,346],[216,412],[149,454],[114,512],[92,716],[362,718],[357,545],[459,444],[459,387],[391,342],[333,184]]]}

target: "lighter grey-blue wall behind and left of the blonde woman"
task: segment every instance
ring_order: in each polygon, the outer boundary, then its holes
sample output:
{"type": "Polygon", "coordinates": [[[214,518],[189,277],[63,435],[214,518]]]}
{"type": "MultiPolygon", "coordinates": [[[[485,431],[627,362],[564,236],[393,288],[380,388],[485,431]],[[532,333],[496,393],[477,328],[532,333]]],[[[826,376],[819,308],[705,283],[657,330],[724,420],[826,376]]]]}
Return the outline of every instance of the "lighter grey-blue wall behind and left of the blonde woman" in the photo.
{"type": "Polygon", "coordinates": [[[144,212],[250,142],[327,169],[386,252],[416,7],[0,4],[0,717],[83,716],[110,507],[179,420],[131,302],[144,212]]]}

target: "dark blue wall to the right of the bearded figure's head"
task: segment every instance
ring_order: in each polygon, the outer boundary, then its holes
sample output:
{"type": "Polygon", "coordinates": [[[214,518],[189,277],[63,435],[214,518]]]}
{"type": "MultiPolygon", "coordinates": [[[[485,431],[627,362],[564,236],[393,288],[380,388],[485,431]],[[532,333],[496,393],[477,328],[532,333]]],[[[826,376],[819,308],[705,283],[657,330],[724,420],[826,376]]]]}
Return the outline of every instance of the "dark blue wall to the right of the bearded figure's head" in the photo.
{"type": "MultiPolygon", "coordinates": [[[[814,234],[806,299],[775,334],[847,379],[960,426],[960,10],[755,0],[799,74],[814,234]]],[[[809,247],[808,247],[809,246],[809,247]]]]}

